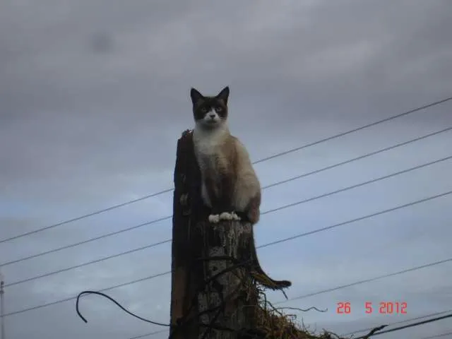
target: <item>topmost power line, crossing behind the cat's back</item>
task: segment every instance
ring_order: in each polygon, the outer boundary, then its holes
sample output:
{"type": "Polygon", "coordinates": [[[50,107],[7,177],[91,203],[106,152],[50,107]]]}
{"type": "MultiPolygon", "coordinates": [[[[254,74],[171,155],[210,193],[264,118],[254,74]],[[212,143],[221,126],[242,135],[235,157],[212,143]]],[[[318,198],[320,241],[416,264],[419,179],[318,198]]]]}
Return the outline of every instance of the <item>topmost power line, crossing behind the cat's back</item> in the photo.
{"type": "MultiPolygon", "coordinates": [[[[260,162],[265,162],[265,161],[268,161],[268,160],[270,160],[270,159],[274,159],[275,157],[280,157],[280,156],[282,156],[282,155],[287,155],[287,154],[289,154],[289,153],[296,152],[297,150],[302,150],[302,149],[304,149],[304,148],[308,148],[308,147],[311,147],[311,146],[314,146],[314,145],[318,145],[319,143],[324,143],[324,142],[326,142],[326,141],[331,141],[331,140],[333,140],[333,139],[335,139],[335,138],[340,138],[340,137],[342,137],[342,136],[346,136],[347,134],[354,133],[354,132],[357,132],[357,131],[361,131],[361,130],[367,129],[367,128],[371,127],[371,126],[376,126],[376,125],[378,125],[378,124],[382,124],[383,122],[386,122],[386,121],[391,121],[391,120],[397,119],[397,118],[399,118],[399,117],[405,117],[405,116],[407,116],[408,114],[412,114],[412,113],[418,112],[418,111],[420,111],[420,110],[422,110],[422,109],[427,109],[427,108],[429,108],[429,107],[434,107],[434,106],[436,106],[436,105],[440,105],[440,104],[442,104],[442,103],[444,103],[444,102],[447,102],[447,101],[449,101],[449,100],[452,100],[452,97],[446,97],[446,98],[443,99],[443,100],[438,100],[438,101],[436,101],[436,102],[432,102],[432,103],[430,103],[430,104],[427,104],[427,105],[424,105],[424,106],[421,106],[421,107],[417,107],[417,108],[415,108],[415,109],[410,109],[410,110],[407,111],[407,112],[403,112],[403,113],[400,113],[400,114],[396,114],[396,115],[393,115],[393,116],[388,117],[388,118],[386,118],[386,119],[381,119],[381,120],[379,120],[379,121],[374,121],[374,122],[372,122],[371,124],[367,124],[367,125],[364,125],[364,126],[360,126],[360,127],[357,127],[356,129],[351,129],[351,130],[349,130],[349,131],[345,131],[345,132],[342,132],[342,133],[338,133],[338,134],[335,134],[334,136],[329,136],[328,138],[323,138],[323,139],[321,139],[321,140],[319,140],[319,141],[314,141],[314,142],[312,142],[312,143],[307,143],[307,144],[302,145],[302,146],[299,146],[299,147],[297,147],[297,148],[292,148],[292,149],[290,149],[290,150],[285,150],[284,152],[276,153],[275,155],[270,155],[270,156],[268,156],[268,157],[264,157],[264,158],[262,158],[262,159],[260,159],[260,160],[257,160],[257,161],[255,161],[255,162],[253,162],[253,163],[254,163],[254,164],[258,164],[258,163],[260,163],[260,162]]],[[[101,209],[101,210],[96,210],[95,212],[88,213],[88,214],[85,214],[85,215],[81,215],[81,216],[79,216],[79,217],[77,217],[77,218],[72,218],[72,219],[69,219],[69,220],[65,220],[65,221],[62,221],[62,222],[58,222],[58,223],[53,224],[53,225],[49,225],[49,226],[46,226],[46,227],[39,228],[39,229],[37,229],[37,230],[32,230],[32,231],[30,231],[30,232],[25,232],[25,233],[23,233],[23,234],[18,234],[18,235],[15,235],[15,236],[13,236],[13,237],[9,237],[9,238],[6,238],[6,239],[1,239],[1,240],[0,240],[0,244],[1,244],[1,243],[4,243],[4,242],[9,242],[9,241],[14,240],[14,239],[18,239],[18,238],[21,238],[21,237],[26,237],[26,236],[28,236],[28,235],[30,235],[30,234],[35,234],[35,233],[38,233],[38,232],[42,232],[42,231],[44,231],[44,230],[49,230],[49,229],[52,229],[52,228],[54,228],[54,227],[59,227],[59,226],[61,226],[61,225],[66,225],[66,224],[69,224],[70,222],[74,222],[74,221],[82,220],[82,219],[85,219],[85,218],[89,218],[89,217],[91,217],[91,216],[93,216],[93,215],[97,215],[97,214],[100,214],[100,213],[105,213],[105,212],[107,212],[107,211],[109,211],[109,210],[113,210],[113,209],[115,209],[115,208],[120,208],[120,207],[129,205],[129,204],[131,204],[131,203],[136,203],[137,201],[143,201],[143,200],[145,200],[145,199],[147,199],[147,198],[151,198],[151,197],[154,197],[154,196],[158,196],[158,195],[160,195],[160,194],[164,194],[164,193],[167,193],[167,192],[172,191],[172,190],[173,190],[173,189],[165,189],[165,190],[163,190],[163,191],[159,191],[159,192],[154,193],[154,194],[149,194],[149,195],[143,196],[143,197],[141,197],[141,198],[136,198],[136,199],[133,199],[133,200],[130,200],[130,201],[126,201],[126,202],[124,202],[124,203],[119,203],[118,205],[110,206],[110,207],[108,207],[108,208],[104,208],[104,209],[101,209]]]]}

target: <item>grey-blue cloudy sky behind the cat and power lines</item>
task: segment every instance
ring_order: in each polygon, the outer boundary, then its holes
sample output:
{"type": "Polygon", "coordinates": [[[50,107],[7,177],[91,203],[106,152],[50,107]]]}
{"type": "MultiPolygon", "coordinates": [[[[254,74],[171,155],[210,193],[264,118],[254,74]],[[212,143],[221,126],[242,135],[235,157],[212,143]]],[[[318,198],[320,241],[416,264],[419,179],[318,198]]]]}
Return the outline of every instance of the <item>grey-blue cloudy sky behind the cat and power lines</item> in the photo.
{"type": "MultiPolygon", "coordinates": [[[[216,94],[230,85],[230,129],[254,161],[452,95],[450,0],[4,0],[0,7],[0,240],[171,189],[177,138],[193,126],[192,86],[216,94]]],[[[452,100],[260,162],[256,171],[263,186],[313,172],[446,129],[451,111],[452,100]]],[[[451,146],[452,131],[444,131],[266,189],[262,211],[441,160],[263,215],[256,242],[447,193],[452,162],[443,159],[451,146]]],[[[289,298],[444,261],[452,258],[451,203],[451,195],[432,198],[258,255],[270,276],[292,280],[289,298]]],[[[171,213],[172,192],[160,194],[1,242],[0,263],[171,213]]],[[[81,304],[85,324],[73,299],[58,301],[167,272],[169,242],[49,273],[167,240],[171,227],[162,220],[1,267],[7,338],[129,339],[165,329],[96,296],[81,304]]],[[[168,322],[169,278],[108,293],[168,322]]],[[[328,309],[299,320],[349,333],[452,309],[451,278],[448,261],[279,306],[328,309]],[[350,302],[350,314],[337,314],[338,302],[350,302]],[[407,314],[365,314],[365,302],[406,302],[407,314]]],[[[446,319],[403,336],[451,331],[446,319]]]]}

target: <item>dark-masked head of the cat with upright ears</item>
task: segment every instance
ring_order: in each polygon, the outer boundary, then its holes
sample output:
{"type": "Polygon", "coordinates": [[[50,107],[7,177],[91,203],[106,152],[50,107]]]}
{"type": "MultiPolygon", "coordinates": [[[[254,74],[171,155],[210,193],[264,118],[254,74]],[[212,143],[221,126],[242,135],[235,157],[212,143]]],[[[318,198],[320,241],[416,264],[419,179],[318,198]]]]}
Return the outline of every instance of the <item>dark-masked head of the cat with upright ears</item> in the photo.
{"type": "Polygon", "coordinates": [[[215,129],[225,124],[229,87],[223,88],[215,97],[205,97],[198,90],[191,88],[190,97],[197,126],[203,129],[215,129]]]}

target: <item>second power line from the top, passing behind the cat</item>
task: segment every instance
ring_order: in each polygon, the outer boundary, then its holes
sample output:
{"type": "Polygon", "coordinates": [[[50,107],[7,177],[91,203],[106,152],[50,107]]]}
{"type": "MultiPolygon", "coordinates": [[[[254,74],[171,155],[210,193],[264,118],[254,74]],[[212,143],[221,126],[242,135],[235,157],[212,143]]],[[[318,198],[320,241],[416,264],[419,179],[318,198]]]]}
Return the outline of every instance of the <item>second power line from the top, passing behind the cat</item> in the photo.
{"type": "MultiPolygon", "coordinates": [[[[439,135],[440,133],[445,133],[447,131],[451,131],[451,129],[452,129],[452,127],[448,127],[446,129],[441,129],[440,131],[435,131],[433,133],[429,133],[429,134],[426,134],[424,136],[420,136],[420,137],[417,137],[417,138],[410,139],[408,141],[404,141],[402,143],[397,143],[396,145],[391,145],[391,146],[386,147],[386,148],[381,148],[381,149],[376,150],[374,152],[366,153],[364,155],[360,155],[359,157],[354,157],[352,159],[345,160],[343,162],[338,162],[338,163],[336,163],[334,165],[329,165],[329,166],[326,166],[326,167],[322,167],[320,169],[315,169],[314,171],[307,172],[307,173],[304,173],[304,174],[300,174],[300,175],[297,175],[296,177],[292,177],[290,179],[285,179],[285,180],[282,180],[280,182],[275,182],[273,184],[269,184],[267,186],[263,186],[262,189],[268,189],[268,188],[273,187],[273,186],[278,186],[280,184],[286,184],[287,182],[291,182],[293,180],[297,180],[297,179],[301,179],[301,178],[304,178],[304,177],[308,177],[308,176],[313,175],[313,174],[318,174],[318,173],[326,171],[328,169],[333,169],[335,167],[346,165],[346,164],[349,164],[351,162],[355,162],[357,160],[362,160],[362,159],[364,159],[366,157],[371,157],[371,156],[379,154],[379,153],[387,152],[388,150],[393,150],[395,148],[402,147],[403,145],[408,145],[410,143],[415,143],[416,141],[421,141],[421,140],[423,140],[425,138],[429,138],[431,136],[439,135]]],[[[83,242],[77,242],[75,244],[69,244],[69,245],[66,245],[66,246],[58,247],[57,249],[51,249],[49,251],[43,251],[43,252],[40,252],[38,254],[33,254],[31,256],[26,256],[26,257],[23,257],[23,258],[18,258],[16,260],[7,261],[6,263],[0,264],[0,266],[7,266],[7,265],[11,265],[13,263],[19,263],[20,261],[26,261],[26,260],[29,260],[29,259],[32,259],[32,258],[37,258],[39,256],[44,256],[46,254],[52,254],[52,253],[55,253],[57,251],[62,251],[64,249],[69,249],[69,248],[72,248],[72,247],[80,246],[82,244],[88,244],[89,242],[94,242],[94,241],[97,241],[97,240],[100,240],[100,239],[104,239],[104,238],[107,238],[107,237],[112,237],[114,235],[121,234],[123,232],[129,232],[131,230],[136,230],[136,229],[138,229],[140,227],[144,227],[144,226],[147,226],[147,225],[152,225],[155,222],[169,220],[171,218],[172,218],[172,215],[167,215],[166,217],[158,218],[158,219],[155,219],[155,220],[151,220],[149,222],[144,222],[144,223],[141,223],[139,225],[132,226],[132,227],[127,227],[127,228],[125,228],[123,230],[119,230],[119,231],[116,231],[116,232],[110,232],[110,233],[107,233],[107,234],[102,234],[102,235],[100,235],[98,237],[93,237],[93,238],[90,238],[90,239],[86,239],[83,242]]],[[[169,241],[170,240],[166,240],[165,242],[169,242],[169,241]]],[[[160,243],[157,243],[157,244],[160,244],[160,243]]],[[[150,246],[152,246],[152,245],[150,245],[150,246]]]]}

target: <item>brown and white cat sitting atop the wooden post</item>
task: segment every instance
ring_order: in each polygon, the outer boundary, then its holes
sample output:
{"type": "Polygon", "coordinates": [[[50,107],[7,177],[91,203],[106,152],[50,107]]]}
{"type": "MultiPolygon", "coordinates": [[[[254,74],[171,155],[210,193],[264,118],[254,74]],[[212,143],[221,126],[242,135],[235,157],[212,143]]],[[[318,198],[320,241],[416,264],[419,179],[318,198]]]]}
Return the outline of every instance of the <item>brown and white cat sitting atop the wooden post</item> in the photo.
{"type": "Polygon", "coordinates": [[[208,221],[242,220],[251,223],[254,277],[273,290],[290,287],[287,280],[273,280],[258,263],[253,225],[260,218],[261,184],[238,138],[227,126],[229,86],[218,95],[204,96],[191,88],[195,127],[194,153],[201,171],[201,199],[210,208],[208,221]]]}

